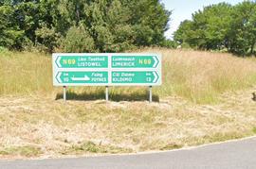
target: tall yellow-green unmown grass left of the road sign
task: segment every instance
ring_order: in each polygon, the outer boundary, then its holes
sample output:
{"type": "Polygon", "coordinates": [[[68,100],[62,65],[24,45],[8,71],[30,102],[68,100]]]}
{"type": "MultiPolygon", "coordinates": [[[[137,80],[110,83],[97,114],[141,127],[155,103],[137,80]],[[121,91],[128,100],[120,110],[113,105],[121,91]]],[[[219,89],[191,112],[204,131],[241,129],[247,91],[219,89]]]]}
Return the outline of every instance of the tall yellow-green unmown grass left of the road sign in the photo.
{"type": "Polygon", "coordinates": [[[51,58],[36,53],[0,53],[0,94],[52,92],[51,58]]]}

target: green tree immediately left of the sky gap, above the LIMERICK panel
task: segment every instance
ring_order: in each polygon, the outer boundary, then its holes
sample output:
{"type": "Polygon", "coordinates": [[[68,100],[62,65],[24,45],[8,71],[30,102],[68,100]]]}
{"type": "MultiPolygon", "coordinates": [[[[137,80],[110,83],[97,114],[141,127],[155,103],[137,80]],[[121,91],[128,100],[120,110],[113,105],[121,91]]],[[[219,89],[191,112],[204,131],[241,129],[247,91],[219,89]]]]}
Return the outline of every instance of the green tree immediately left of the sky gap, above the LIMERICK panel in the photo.
{"type": "Polygon", "coordinates": [[[123,0],[131,10],[131,25],[137,46],[160,45],[165,40],[171,11],[164,8],[159,0],[123,0]]]}

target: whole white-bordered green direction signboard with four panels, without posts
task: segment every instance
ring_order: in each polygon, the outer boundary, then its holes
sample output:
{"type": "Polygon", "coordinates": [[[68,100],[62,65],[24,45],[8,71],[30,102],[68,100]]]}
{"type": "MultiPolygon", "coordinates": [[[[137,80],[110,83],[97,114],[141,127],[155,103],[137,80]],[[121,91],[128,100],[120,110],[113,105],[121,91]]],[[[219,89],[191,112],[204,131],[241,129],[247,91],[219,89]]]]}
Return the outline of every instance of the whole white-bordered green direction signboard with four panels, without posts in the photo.
{"type": "Polygon", "coordinates": [[[158,86],[157,54],[53,54],[54,86],[158,86]]]}

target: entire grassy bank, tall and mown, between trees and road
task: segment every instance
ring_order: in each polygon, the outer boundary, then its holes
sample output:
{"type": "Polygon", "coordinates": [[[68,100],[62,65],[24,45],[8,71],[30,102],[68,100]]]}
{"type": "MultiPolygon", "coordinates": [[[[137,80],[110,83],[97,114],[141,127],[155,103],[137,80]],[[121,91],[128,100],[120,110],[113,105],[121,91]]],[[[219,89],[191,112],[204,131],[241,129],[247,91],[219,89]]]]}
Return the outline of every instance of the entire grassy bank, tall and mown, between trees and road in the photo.
{"type": "Polygon", "coordinates": [[[102,88],[86,87],[69,89],[64,104],[56,100],[62,89],[52,87],[49,56],[0,54],[0,158],[166,150],[255,134],[254,59],[141,52],[163,55],[158,103],[144,100],[144,88],[111,89],[118,102],[105,103],[102,88]]]}

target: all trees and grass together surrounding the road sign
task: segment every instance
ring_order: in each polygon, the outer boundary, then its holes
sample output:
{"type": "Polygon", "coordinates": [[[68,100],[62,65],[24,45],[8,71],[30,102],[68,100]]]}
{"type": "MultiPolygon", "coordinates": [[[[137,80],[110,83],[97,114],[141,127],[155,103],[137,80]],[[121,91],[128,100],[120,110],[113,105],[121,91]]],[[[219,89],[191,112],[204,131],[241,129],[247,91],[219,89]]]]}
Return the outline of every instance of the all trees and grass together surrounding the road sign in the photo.
{"type": "Polygon", "coordinates": [[[254,1],[205,7],[171,41],[164,33],[172,11],[159,0],[0,1],[0,159],[170,150],[255,135],[256,60],[246,58],[255,56],[255,13],[254,1]],[[52,52],[124,51],[163,56],[154,103],[147,87],[111,87],[110,102],[102,87],[68,87],[64,103],[52,85],[52,52]]]}

